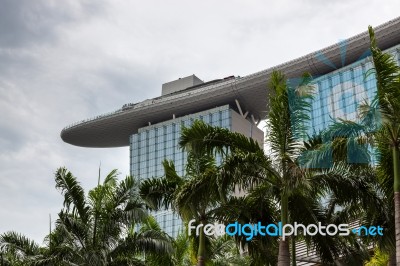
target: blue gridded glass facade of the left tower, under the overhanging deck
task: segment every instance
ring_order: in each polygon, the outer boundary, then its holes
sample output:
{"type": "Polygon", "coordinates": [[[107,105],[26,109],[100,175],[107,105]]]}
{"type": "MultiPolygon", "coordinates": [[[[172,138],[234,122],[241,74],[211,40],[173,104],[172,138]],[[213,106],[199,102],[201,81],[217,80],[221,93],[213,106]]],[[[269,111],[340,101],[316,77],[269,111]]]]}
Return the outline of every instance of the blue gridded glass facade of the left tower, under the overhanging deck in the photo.
{"type": "MultiPolygon", "coordinates": [[[[177,173],[185,175],[186,154],[178,146],[182,126],[189,127],[194,120],[199,119],[231,130],[231,112],[229,105],[225,105],[140,128],[137,134],[130,137],[131,175],[139,179],[162,177],[164,159],[174,161],[177,173]]],[[[176,214],[165,210],[153,215],[166,233],[176,237],[182,227],[182,221],[176,214]]]]}

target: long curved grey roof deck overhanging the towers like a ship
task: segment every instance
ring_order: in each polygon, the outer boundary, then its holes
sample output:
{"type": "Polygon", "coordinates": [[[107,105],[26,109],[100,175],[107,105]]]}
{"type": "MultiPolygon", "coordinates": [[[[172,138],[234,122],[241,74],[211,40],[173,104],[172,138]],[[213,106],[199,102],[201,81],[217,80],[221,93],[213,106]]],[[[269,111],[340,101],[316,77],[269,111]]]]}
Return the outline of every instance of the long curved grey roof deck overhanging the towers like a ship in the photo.
{"type": "MultiPolygon", "coordinates": [[[[378,45],[388,49],[400,43],[400,17],[375,28],[378,45]]],[[[126,104],[121,109],[86,119],[61,131],[61,138],[70,144],[82,147],[122,147],[129,145],[129,136],[139,128],[170,120],[172,116],[183,116],[225,104],[240,102],[243,112],[248,111],[256,119],[267,112],[268,79],[273,70],[280,70],[289,78],[300,77],[304,72],[320,76],[345,66],[365,56],[369,48],[368,32],[363,32],[344,41],[346,44],[345,64],[343,49],[335,44],[315,51],[284,64],[245,76],[211,82],[204,86],[179,91],[173,94],[148,99],[135,104],[126,104]],[[324,59],[321,59],[323,55],[324,59]]]]}

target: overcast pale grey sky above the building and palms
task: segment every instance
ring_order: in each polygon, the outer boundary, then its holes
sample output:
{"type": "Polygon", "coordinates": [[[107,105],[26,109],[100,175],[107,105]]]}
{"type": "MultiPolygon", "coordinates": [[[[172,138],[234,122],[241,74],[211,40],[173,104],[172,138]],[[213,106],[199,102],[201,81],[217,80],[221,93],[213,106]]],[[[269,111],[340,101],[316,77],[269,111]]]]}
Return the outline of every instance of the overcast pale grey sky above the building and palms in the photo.
{"type": "Polygon", "coordinates": [[[86,190],[129,149],[64,143],[62,128],[196,74],[245,76],[398,16],[398,0],[0,0],[0,233],[42,243],[66,166],[86,190]]]}

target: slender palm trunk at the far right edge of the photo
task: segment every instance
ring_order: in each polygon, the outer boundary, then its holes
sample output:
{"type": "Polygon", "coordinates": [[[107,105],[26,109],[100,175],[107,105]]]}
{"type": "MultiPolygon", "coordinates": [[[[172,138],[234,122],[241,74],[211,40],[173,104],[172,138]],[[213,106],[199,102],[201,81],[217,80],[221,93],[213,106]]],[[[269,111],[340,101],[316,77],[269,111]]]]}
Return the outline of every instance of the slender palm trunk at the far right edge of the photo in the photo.
{"type": "Polygon", "coordinates": [[[400,265],[400,158],[399,148],[394,145],[393,151],[393,176],[394,176],[394,222],[396,229],[396,265],[400,265]]]}

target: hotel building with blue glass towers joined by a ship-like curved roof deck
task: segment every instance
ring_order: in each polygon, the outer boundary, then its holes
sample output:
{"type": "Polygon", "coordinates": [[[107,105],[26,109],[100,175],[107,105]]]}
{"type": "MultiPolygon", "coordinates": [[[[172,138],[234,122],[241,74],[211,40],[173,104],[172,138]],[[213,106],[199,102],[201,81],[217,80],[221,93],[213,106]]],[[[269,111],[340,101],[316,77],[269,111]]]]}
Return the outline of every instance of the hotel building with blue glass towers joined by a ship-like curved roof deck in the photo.
{"type": "MultiPolygon", "coordinates": [[[[400,63],[400,18],[375,28],[378,46],[400,63]]],[[[301,40],[299,40],[301,41],[301,40]]],[[[278,51],[279,52],[279,51],[278,51]]],[[[283,51],[282,51],[283,52],[283,51]]],[[[61,138],[81,147],[130,147],[131,173],[139,178],[162,176],[161,161],[171,159],[184,174],[185,154],[177,147],[181,126],[201,119],[215,126],[244,133],[260,143],[257,128],[268,112],[269,77],[273,70],[288,78],[309,72],[315,77],[311,131],[329,126],[332,118],[356,120],[357,107],[376,92],[369,57],[369,36],[363,32],[281,65],[247,76],[203,82],[192,75],[163,85],[162,95],[129,103],[115,112],[85,119],[64,128],[61,138]]],[[[162,228],[176,235],[181,223],[170,211],[156,214],[162,228]]],[[[298,265],[313,265],[318,258],[297,248],[298,265]]]]}

